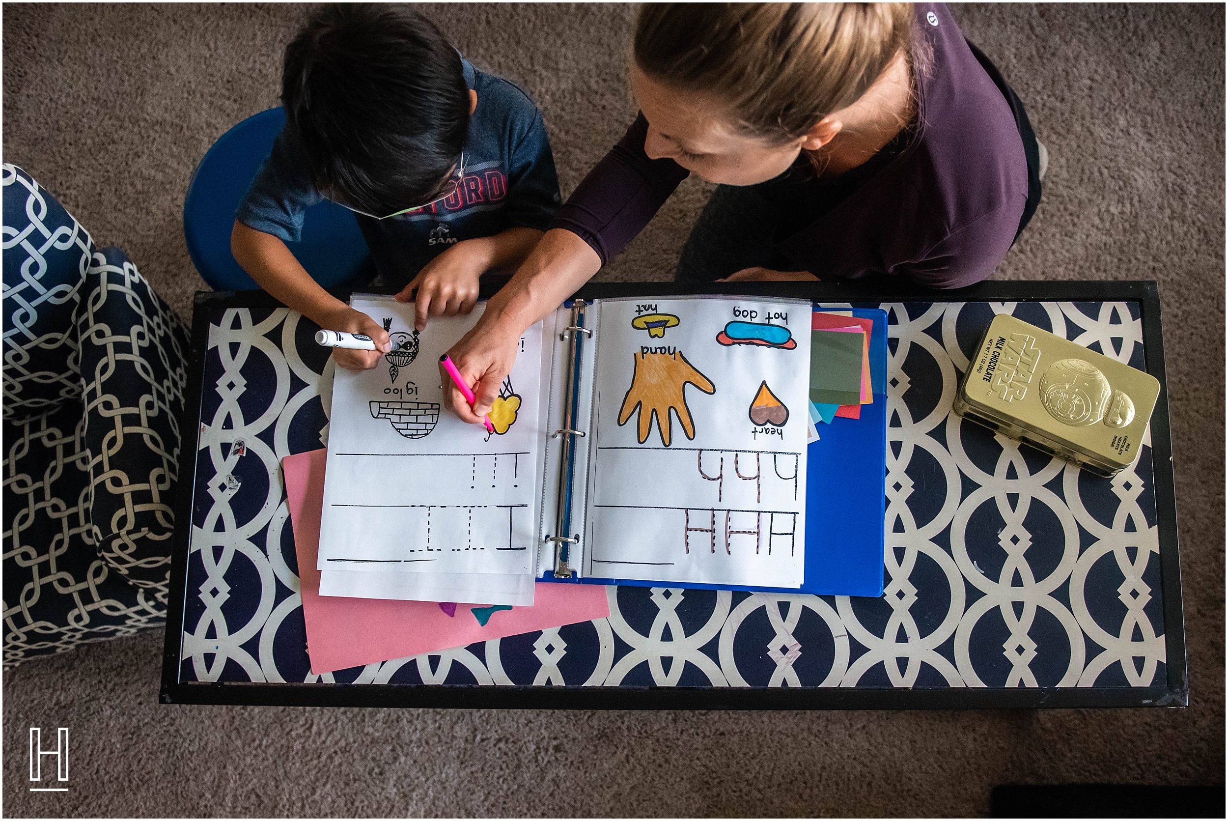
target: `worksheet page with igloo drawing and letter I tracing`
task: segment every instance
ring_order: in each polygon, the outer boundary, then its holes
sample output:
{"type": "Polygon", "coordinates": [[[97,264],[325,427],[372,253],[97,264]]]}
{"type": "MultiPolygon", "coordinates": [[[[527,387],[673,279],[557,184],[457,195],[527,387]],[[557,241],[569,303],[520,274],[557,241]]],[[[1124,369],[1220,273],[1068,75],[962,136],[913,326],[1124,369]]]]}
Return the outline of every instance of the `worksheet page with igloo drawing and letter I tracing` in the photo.
{"type": "Polygon", "coordinates": [[[421,333],[411,304],[355,296],[351,305],[388,329],[393,350],[373,370],[336,369],[317,567],[532,574],[542,324],[521,339],[489,433],[443,408],[438,369],[485,304],[431,317],[421,333]]]}

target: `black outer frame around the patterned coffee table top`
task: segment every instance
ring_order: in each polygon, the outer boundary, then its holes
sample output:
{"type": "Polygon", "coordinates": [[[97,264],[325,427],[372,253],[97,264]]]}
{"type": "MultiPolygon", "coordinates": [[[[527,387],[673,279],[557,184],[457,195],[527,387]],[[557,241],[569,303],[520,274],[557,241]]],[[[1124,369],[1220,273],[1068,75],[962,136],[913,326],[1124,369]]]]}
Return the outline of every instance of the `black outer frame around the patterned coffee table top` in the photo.
{"type": "MultiPolygon", "coordinates": [[[[490,297],[506,279],[483,284],[490,297]]],[[[394,293],[389,289],[365,289],[394,293]]],[[[348,300],[349,290],[332,291],[348,300]]],[[[345,685],[345,683],[227,683],[182,682],[179,651],[187,596],[188,554],[192,540],[190,488],[195,487],[200,451],[181,447],[179,493],[171,565],[171,601],[162,659],[165,704],[253,704],[293,707],[446,707],[511,709],[1034,709],[1087,707],[1185,707],[1189,675],[1185,659],[1185,619],[1181,610],[1181,565],[1178,544],[1173,446],[1169,429],[1168,382],[1159,290],[1143,281],[985,281],[958,290],[936,291],[894,281],[873,283],[591,283],[577,299],[615,296],[670,296],[679,294],[745,294],[783,296],[814,302],[1095,302],[1136,301],[1142,312],[1147,371],[1159,380],[1160,393],[1151,419],[1160,589],[1164,605],[1165,669],[1162,687],[906,689],[894,687],[507,687],[453,685],[345,685]]],[[[192,324],[185,410],[179,429],[185,439],[200,424],[204,365],[209,344],[205,312],[231,307],[280,307],[264,291],[198,293],[192,324]]]]}

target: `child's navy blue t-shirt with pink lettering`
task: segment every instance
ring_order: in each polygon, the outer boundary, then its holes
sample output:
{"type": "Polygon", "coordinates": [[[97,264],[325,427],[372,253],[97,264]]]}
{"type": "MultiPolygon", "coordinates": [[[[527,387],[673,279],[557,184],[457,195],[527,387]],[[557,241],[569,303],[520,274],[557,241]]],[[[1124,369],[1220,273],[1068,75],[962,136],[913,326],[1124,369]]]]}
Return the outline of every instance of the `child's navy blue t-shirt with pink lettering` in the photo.
{"type": "MultiPolygon", "coordinates": [[[[464,149],[464,181],[449,198],[376,220],[356,214],[371,257],[388,285],[404,285],[462,240],[510,227],[544,231],[562,203],[542,113],[513,84],[462,60],[478,92],[464,149]]],[[[297,242],[303,211],[323,197],[312,184],[302,149],[282,130],[235,213],[239,222],[284,242],[297,242]]],[[[408,204],[408,203],[406,203],[408,204]]]]}

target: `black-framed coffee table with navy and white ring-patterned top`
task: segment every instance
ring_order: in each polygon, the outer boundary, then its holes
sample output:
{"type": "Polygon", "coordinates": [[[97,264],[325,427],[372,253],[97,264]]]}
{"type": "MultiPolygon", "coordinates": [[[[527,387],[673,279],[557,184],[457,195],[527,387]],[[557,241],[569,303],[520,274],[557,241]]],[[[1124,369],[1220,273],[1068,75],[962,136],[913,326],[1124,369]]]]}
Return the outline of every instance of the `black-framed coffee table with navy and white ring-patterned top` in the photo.
{"type": "MultiPolygon", "coordinates": [[[[329,352],[313,342],[313,323],[262,291],[198,294],[161,701],[1186,704],[1167,387],[1137,463],[1111,481],[950,412],[968,355],[1003,312],[1147,370],[1164,386],[1154,283],[990,281],[942,293],[893,283],[716,283],[706,291],[887,310],[882,599],[610,587],[609,618],[314,676],[280,458],[322,446],[329,352]],[[243,456],[233,455],[238,438],[243,456]]],[[[682,293],[694,291],[592,284],[577,296],[682,293]]]]}

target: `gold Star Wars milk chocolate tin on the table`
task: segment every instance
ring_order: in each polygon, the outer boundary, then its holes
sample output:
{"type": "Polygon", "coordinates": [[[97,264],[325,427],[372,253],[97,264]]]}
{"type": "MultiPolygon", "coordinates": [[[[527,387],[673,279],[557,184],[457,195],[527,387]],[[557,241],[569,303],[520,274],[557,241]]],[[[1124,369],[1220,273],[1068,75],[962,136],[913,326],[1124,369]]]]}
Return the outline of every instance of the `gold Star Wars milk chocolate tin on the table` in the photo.
{"type": "Polygon", "coordinates": [[[1133,463],[1159,381],[1013,316],[990,322],[954,410],[1099,476],[1133,463]]]}

